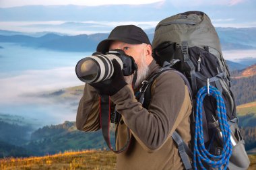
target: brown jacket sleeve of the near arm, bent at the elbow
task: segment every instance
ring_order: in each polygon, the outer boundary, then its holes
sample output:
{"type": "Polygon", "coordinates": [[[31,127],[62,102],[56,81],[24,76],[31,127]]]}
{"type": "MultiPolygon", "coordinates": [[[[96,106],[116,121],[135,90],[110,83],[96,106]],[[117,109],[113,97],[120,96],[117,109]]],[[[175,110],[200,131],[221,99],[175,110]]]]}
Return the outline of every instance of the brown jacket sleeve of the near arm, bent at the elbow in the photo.
{"type": "Polygon", "coordinates": [[[191,110],[189,92],[177,73],[163,73],[152,86],[148,110],[135,99],[131,85],[110,97],[133,136],[149,153],[161,148],[191,110]]]}

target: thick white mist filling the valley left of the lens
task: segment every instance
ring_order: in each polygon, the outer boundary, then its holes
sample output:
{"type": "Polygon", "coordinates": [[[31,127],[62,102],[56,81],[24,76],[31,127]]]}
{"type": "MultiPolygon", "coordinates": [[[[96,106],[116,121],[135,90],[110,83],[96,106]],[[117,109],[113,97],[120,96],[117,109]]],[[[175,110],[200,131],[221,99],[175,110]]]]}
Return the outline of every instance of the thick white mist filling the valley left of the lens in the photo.
{"type": "MultiPolygon", "coordinates": [[[[6,76],[5,76],[6,77],[6,76]]],[[[0,111],[38,121],[38,126],[75,121],[77,105],[40,97],[40,93],[83,85],[73,67],[29,70],[0,79],[0,111]]],[[[69,101],[77,103],[78,101],[69,101]]]]}

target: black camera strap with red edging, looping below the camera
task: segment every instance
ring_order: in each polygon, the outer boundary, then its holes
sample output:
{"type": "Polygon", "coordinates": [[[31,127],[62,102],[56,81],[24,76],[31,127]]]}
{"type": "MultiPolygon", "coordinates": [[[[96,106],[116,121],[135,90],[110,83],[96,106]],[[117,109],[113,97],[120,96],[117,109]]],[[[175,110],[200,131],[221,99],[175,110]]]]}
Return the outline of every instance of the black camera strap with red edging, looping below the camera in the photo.
{"type": "MultiPolygon", "coordinates": [[[[108,145],[108,148],[110,148],[111,151],[113,151],[114,153],[122,153],[123,151],[126,151],[127,148],[129,147],[129,144],[131,142],[131,131],[127,127],[127,141],[125,143],[125,146],[123,146],[119,150],[114,149],[110,143],[110,133],[109,133],[110,114],[111,114],[110,98],[108,95],[101,95],[100,96],[100,126],[101,126],[104,140],[105,140],[106,144],[108,145]]],[[[117,124],[117,127],[115,129],[115,138],[117,138],[118,126],[119,126],[119,123],[117,124]]]]}

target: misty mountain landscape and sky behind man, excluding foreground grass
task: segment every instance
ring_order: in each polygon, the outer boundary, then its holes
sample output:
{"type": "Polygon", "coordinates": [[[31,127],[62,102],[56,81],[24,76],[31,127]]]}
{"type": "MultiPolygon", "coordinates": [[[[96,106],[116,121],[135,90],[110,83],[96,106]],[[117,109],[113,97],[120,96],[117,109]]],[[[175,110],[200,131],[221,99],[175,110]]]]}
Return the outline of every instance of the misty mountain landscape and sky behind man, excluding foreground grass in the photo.
{"type": "Polygon", "coordinates": [[[154,38],[165,17],[199,10],[212,19],[232,74],[247,153],[256,153],[256,3],[223,1],[0,1],[0,157],[104,149],[101,131],[79,132],[84,84],[75,65],[115,26],[154,38]],[[205,3],[206,2],[206,3],[205,3]]]}

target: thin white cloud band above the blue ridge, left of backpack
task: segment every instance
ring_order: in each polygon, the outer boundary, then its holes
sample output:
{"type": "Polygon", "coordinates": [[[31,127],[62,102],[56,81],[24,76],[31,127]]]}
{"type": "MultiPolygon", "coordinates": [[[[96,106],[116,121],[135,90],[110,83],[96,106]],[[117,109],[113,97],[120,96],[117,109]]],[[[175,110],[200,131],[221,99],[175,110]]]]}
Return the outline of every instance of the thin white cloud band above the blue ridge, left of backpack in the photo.
{"type": "Polygon", "coordinates": [[[134,24],[143,29],[155,28],[158,22],[0,22],[1,30],[11,30],[15,32],[58,32],[62,34],[96,34],[109,33],[113,28],[120,25],[134,24]]]}

